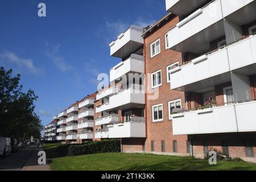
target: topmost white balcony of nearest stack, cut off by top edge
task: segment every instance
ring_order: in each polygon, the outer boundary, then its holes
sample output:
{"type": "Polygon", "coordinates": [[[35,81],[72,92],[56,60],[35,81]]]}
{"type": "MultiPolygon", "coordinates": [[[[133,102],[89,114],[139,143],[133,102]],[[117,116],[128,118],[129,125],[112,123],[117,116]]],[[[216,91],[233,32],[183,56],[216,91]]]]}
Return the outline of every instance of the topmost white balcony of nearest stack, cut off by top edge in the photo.
{"type": "Polygon", "coordinates": [[[208,0],[166,0],[166,11],[176,15],[187,15],[208,0]]]}

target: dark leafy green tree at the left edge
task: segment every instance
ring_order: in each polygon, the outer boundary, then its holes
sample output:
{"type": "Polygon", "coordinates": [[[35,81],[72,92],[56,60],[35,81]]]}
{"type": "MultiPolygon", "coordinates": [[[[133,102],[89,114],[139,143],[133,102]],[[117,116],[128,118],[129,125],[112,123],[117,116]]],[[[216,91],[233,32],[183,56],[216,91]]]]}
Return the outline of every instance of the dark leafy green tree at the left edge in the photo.
{"type": "Polygon", "coordinates": [[[18,139],[27,133],[39,138],[42,125],[34,113],[38,96],[33,90],[23,93],[20,75],[12,77],[12,73],[0,68],[0,136],[18,139]]]}

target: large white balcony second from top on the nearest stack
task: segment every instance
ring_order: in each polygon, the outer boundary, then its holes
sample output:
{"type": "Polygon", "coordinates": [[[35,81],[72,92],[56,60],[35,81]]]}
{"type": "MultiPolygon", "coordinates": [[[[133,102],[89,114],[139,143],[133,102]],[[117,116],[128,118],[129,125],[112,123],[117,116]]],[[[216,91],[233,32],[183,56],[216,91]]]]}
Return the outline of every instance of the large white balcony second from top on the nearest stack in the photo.
{"type": "Polygon", "coordinates": [[[209,43],[224,36],[225,29],[228,30],[224,26],[224,18],[241,25],[255,19],[255,2],[251,3],[253,1],[216,0],[209,3],[181,20],[168,32],[169,48],[196,54],[207,51],[210,49],[209,43]],[[251,4],[247,6],[249,3],[251,4]]]}

